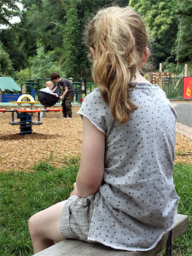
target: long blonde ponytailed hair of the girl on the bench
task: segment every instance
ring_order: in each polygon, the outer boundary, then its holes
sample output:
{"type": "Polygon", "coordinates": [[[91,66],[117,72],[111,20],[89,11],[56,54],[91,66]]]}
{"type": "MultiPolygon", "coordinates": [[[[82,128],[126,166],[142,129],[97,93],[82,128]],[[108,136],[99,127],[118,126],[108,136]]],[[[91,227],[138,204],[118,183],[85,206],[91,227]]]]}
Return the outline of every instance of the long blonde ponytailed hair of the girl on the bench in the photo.
{"type": "Polygon", "coordinates": [[[93,79],[113,117],[124,123],[137,109],[128,89],[148,44],[143,20],[132,9],[109,7],[90,21],[85,36],[87,46],[95,50],[93,79]]]}

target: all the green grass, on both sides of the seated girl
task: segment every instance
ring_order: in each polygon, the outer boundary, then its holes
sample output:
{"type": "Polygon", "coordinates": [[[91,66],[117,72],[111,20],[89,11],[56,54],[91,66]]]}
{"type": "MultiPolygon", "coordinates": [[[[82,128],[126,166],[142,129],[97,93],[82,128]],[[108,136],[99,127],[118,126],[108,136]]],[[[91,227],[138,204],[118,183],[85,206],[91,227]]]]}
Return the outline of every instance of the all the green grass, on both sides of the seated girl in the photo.
{"type": "MultiPolygon", "coordinates": [[[[0,255],[32,255],[28,219],[46,207],[67,199],[73,189],[79,158],[66,160],[56,169],[48,162],[34,166],[34,172],[0,172],[0,255]]],[[[192,255],[192,166],[177,164],[174,172],[178,212],[189,215],[189,230],[174,242],[174,255],[192,255]]]]}

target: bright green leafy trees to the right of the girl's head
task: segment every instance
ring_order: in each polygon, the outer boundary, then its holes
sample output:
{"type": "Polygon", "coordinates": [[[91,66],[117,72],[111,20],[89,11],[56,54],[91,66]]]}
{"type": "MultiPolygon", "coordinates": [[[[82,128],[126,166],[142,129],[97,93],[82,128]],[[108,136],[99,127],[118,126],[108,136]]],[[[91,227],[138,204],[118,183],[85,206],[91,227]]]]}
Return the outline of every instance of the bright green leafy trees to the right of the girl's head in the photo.
{"type": "Polygon", "coordinates": [[[131,0],[130,6],[143,16],[152,36],[156,67],[164,61],[192,61],[191,0],[131,0]]]}

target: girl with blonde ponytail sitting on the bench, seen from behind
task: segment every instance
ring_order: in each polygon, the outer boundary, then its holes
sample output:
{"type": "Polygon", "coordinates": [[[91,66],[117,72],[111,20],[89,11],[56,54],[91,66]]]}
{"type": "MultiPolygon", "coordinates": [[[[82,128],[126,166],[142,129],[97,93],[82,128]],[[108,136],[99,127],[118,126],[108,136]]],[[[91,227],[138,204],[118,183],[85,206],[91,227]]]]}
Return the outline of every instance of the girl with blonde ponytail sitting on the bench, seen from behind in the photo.
{"type": "Polygon", "coordinates": [[[100,10],[86,28],[86,44],[98,88],[79,109],[79,172],[69,199],[29,220],[34,252],[65,238],[148,251],[177,216],[176,112],[164,91],[139,72],[149,51],[135,11],[100,10]]]}

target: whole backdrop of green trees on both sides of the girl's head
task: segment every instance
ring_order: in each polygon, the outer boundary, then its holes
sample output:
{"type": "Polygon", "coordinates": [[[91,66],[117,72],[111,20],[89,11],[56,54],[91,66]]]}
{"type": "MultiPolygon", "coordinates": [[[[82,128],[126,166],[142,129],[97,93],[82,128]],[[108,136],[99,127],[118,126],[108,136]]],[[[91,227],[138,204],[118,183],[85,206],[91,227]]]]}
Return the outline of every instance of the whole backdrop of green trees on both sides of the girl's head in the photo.
{"type": "MultiPolygon", "coordinates": [[[[159,69],[159,63],[165,63],[163,67],[167,68],[192,62],[191,0],[3,0],[0,3],[0,25],[8,27],[0,28],[0,42],[17,74],[22,69],[25,73],[32,62],[35,63],[40,43],[44,46],[47,61],[51,55],[53,69],[61,70],[75,80],[81,77],[90,80],[84,25],[98,9],[128,4],[143,16],[148,27],[151,59],[154,61],[154,68],[150,67],[150,70],[159,69]],[[17,7],[19,2],[23,4],[21,11],[17,7]],[[20,23],[9,24],[15,15],[20,16],[20,23]]],[[[37,62],[42,64],[39,60],[37,62]]],[[[49,69],[44,72],[43,68],[41,74],[38,72],[39,76],[47,76],[49,69]]]]}

